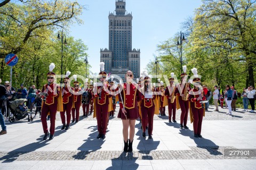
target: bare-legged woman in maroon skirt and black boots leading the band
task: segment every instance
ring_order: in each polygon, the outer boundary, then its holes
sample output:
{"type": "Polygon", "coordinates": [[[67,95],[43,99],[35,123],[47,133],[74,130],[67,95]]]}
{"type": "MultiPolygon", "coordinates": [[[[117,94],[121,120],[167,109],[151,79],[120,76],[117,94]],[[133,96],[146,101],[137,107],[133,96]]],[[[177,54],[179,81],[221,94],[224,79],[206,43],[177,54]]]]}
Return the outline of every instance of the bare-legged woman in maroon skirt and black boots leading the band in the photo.
{"type": "Polygon", "coordinates": [[[138,85],[132,83],[133,73],[128,70],[125,74],[126,83],[120,87],[123,91],[118,94],[120,110],[118,118],[122,119],[123,137],[124,137],[124,152],[132,152],[132,143],[135,134],[135,120],[139,118],[138,102],[141,101],[141,93],[137,89],[138,85]],[[128,128],[130,127],[130,136],[128,140],[128,128]],[[129,142],[129,143],[128,143],[129,142]]]}

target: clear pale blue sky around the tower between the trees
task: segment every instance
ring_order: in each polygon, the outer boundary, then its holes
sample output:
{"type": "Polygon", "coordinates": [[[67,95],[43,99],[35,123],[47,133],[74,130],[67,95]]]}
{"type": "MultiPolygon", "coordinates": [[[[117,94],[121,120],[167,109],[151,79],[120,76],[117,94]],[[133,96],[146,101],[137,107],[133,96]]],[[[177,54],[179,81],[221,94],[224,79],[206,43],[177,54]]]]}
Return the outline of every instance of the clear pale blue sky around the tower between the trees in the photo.
{"type": "MultiPolygon", "coordinates": [[[[100,48],[108,48],[108,14],[115,11],[116,0],[78,0],[86,5],[83,25],[70,27],[71,36],[88,46],[92,72],[99,72],[100,48]]],[[[157,54],[156,46],[180,31],[180,23],[192,16],[201,0],[126,0],[132,12],[132,48],[140,48],[140,70],[157,54]]]]}

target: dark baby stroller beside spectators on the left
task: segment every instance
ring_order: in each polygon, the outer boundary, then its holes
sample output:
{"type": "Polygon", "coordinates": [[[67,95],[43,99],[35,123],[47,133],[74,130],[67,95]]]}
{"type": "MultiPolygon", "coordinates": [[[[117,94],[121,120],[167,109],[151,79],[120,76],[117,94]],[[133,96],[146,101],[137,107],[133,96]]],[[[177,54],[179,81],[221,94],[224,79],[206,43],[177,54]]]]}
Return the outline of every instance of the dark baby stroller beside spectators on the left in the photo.
{"type": "Polygon", "coordinates": [[[9,114],[9,122],[14,122],[15,120],[20,120],[25,118],[28,115],[28,122],[32,121],[33,118],[30,116],[27,110],[22,111],[19,109],[19,105],[23,104],[27,101],[27,99],[16,99],[14,101],[9,102],[10,110],[12,114],[9,114]]]}

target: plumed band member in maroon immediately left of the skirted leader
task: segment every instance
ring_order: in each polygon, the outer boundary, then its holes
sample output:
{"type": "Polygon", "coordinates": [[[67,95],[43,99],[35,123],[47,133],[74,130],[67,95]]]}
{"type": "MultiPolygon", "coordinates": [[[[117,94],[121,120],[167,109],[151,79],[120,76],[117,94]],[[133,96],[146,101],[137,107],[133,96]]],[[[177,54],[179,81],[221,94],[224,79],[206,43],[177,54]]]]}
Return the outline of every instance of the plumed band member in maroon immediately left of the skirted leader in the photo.
{"type": "Polygon", "coordinates": [[[104,71],[104,62],[100,62],[101,72],[99,73],[102,86],[94,87],[94,113],[97,117],[98,136],[97,139],[105,139],[108,125],[109,99],[111,95],[107,93],[108,86],[105,83],[107,72],[104,71]]]}

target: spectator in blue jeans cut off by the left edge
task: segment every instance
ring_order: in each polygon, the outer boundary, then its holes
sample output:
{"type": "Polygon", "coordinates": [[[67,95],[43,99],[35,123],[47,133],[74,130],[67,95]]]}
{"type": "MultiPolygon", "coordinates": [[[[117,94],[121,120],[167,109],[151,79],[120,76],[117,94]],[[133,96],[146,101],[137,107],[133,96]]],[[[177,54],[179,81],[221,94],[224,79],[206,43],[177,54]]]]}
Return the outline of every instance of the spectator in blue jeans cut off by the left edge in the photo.
{"type": "MultiPolygon", "coordinates": [[[[2,83],[2,80],[0,79],[0,83],[2,83]]],[[[0,85],[0,124],[2,127],[2,131],[0,132],[0,135],[4,135],[7,133],[6,131],[6,125],[4,122],[4,116],[2,114],[2,108],[6,107],[6,98],[8,98],[9,94],[7,93],[7,90],[5,86],[0,85]]]]}

